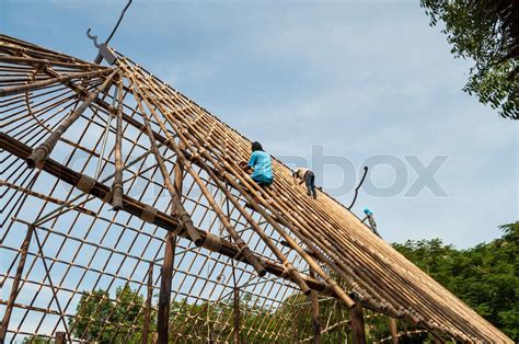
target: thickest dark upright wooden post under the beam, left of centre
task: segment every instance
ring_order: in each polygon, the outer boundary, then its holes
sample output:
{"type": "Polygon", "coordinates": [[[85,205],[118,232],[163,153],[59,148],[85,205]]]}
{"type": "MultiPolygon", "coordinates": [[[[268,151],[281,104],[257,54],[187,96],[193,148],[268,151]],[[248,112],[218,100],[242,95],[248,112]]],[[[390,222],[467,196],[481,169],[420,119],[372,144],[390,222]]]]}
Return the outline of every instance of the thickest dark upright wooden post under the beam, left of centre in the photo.
{"type": "Polygon", "coordinates": [[[173,263],[175,259],[176,236],[168,233],[165,241],[164,263],[161,268],[161,283],[159,294],[159,316],[157,320],[158,343],[168,343],[170,322],[171,279],[173,277],[173,263]]]}

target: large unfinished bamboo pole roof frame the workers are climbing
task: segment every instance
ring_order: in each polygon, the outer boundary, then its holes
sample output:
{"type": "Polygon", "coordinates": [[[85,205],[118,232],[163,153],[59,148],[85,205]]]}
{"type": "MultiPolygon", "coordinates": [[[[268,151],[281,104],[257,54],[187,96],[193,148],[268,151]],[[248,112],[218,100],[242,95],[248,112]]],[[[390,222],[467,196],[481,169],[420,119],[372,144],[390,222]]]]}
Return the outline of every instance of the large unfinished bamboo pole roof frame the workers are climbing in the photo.
{"type": "Polygon", "coordinates": [[[511,343],[335,199],[309,198],[280,161],[274,184],[257,186],[239,167],[249,139],[112,53],[102,66],[0,35],[5,342],[111,331],[304,342],[295,323],[312,329],[310,303],[333,302],[344,321],[322,312],[324,340],[334,326],[358,337],[364,309],[367,332],[382,316],[437,339],[511,343]],[[125,286],[145,297],[143,323],[76,312],[96,289],[130,309],[113,293],[125,286]]]}

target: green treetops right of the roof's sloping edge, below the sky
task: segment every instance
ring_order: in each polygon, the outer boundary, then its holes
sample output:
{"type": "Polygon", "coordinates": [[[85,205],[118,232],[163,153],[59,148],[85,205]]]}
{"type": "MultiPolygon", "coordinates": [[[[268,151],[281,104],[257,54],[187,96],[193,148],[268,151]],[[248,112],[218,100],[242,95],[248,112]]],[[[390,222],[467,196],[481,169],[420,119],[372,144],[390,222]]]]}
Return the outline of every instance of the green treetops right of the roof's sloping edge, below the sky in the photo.
{"type": "Polygon", "coordinates": [[[469,250],[455,250],[439,239],[393,246],[517,342],[519,222],[501,229],[501,238],[469,250]]]}

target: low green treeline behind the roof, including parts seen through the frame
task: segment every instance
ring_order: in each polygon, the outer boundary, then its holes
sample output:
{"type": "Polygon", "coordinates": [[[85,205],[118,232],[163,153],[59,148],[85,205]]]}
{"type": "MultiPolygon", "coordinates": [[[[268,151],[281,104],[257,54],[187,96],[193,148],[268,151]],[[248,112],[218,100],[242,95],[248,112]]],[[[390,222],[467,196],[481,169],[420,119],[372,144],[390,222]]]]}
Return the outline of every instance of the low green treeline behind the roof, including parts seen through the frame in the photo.
{"type": "MultiPolygon", "coordinates": [[[[519,222],[501,228],[501,238],[469,250],[457,250],[439,239],[407,241],[403,244],[394,243],[393,246],[508,336],[518,341],[519,222]]],[[[330,273],[333,275],[333,272],[330,273]]],[[[307,296],[296,293],[280,303],[269,303],[245,290],[240,293],[242,342],[289,343],[311,341],[313,337],[311,306],[307,296]]],[[[125,286],[117,289],[115,299],[117,302],[101,289],[83,295],[77,307],[77,317],[69,321],[73,335],[100,343],[141,342],[143,297],[125,286]]],[[[323,342],[349,342],[349,309],[330,297],[321,298],[319,303],[323,342]]],[[[171,302],[170,309],[170,335],[173,341],[232,342],[232,295],[218,301],[180,298],[171,302]]],[[[365,321],[369,341],[390,335],[387,317],[365,309],[365,321]]],[[[153,317],[151,331],[154,329],[153,317]]],[[[399,322],[399,330],[413,333],[419,328],[399,322]]],[[[427,333],[410,334],[400,340],[401,343],[432,342],[427,333]]]]}

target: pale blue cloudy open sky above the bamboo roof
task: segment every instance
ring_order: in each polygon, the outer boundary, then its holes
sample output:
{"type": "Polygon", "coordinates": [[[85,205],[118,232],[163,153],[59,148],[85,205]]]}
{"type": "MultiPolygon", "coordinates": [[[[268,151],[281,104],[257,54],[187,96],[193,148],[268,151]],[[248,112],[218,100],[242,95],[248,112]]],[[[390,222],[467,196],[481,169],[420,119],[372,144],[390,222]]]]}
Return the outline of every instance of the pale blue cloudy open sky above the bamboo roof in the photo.
{"type": "MultiPolygon", "coordinates": [[[[0,32],[93,60],[86,30],[125,4],[0,0],[0,32]]],[[[345,205],[368,165],[353,210],[389,242],[464,249],[519,217],[518,125],[462,92],[471,61],[419,1],[134,0],[111,46],[345,205]]]]}

